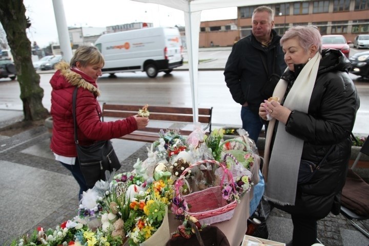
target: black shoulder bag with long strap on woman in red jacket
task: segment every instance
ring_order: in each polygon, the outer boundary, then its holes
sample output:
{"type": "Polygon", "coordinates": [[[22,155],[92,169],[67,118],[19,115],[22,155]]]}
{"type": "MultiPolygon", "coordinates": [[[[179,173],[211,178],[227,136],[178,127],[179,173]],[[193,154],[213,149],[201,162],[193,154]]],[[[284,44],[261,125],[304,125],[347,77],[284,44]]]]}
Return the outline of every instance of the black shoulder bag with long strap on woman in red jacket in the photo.
{"type": "Polygon", "coordinates": [[[96,141],[90,146],[81,146],[77,139],[77,120],[76,120],[76,87],[73,91],[73,121],[74,121],[74,140],[77,148],[77,158],[80,163],[80,169],[85,177],[89,188],[94,187],[96,181],[106,180],[105,171],[118,170],[120,162],[115,154],[112,142],[110,140],[96,141]]]}

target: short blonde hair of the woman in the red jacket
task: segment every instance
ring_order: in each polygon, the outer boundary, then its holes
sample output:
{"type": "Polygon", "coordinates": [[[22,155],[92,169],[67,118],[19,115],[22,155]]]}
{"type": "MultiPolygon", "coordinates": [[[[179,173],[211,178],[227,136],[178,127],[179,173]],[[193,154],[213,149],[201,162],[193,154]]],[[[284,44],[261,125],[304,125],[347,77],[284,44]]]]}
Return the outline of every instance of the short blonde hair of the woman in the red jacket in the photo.
{"type": "Polygon", "coordinates": [[[70,61],[71,67],[76,67],[76,63],[79,61],[82,67],[88,65],[103,65],[105,60],[103,55],[95,46],[81,45],[79,46],[70,61]]]}

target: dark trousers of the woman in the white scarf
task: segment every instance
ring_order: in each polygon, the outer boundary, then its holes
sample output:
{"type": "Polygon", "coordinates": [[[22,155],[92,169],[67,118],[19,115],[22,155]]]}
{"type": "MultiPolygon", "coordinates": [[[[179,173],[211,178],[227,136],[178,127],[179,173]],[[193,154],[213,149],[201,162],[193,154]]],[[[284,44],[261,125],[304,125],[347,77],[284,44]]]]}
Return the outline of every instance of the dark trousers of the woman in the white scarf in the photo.
{"type": "Polygon", "coordinates": [[[295,246],[311,246],[317,239],[317,220],[306,216],[291,214],[294,226],[292,241],[295,246]]]}

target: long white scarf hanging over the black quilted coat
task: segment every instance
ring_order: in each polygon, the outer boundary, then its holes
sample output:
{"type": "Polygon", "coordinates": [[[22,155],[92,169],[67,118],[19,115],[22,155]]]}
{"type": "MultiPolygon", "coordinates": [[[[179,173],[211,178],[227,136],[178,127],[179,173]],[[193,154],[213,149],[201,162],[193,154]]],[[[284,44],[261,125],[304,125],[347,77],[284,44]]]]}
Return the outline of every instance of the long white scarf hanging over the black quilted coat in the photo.
{"type": "MultiPolygon", "coordinates": [[[[321,55],[317,52],[303,67],[294,85],[284,100],[283,106],[291,111],[308,113],[311,94],[316,81],[321,55]]],[[[287,81],[280,79],[273,96],[283,98],[287,81]]],[[[275,119],[269,122],[265,139],[263,175],[265,178],[264,196],[277,204],[294,205],[296,199],[297,177],[300,167],[304,141],[285,131],[285,125],[278,122],[273,150],[270,156],[271,139],[275,119]]]]}

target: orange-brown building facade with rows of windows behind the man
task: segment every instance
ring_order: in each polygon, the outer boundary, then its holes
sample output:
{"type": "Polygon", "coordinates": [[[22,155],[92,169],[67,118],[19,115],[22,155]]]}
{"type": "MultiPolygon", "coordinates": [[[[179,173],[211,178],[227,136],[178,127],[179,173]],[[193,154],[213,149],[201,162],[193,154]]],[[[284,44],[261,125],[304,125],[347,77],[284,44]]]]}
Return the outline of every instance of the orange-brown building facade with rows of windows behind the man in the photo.
{"type": "MultiPolygon", "coordinates": [[[[238,7],[237,19],[201,22],[199,46],[232,46],[248,36],[253,11],[259,6],[238,7]]],[[[274,10],[275,30],[280,35],[297,25],[316,25],[322,35],[342,34],[352,42],[356,35],[369,33],[369,0],[295,1],[268,6],[274,10]]]]}

